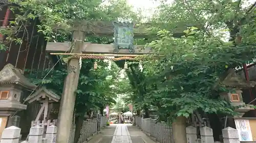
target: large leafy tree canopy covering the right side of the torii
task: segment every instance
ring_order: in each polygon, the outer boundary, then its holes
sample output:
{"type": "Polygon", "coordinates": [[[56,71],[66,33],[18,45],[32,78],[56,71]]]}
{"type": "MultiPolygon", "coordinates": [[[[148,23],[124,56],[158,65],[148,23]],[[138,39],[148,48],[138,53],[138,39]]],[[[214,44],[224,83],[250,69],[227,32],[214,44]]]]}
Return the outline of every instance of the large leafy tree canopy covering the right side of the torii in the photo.
{"type": "Polygon", "coordinates": [[[151,22],[165,24],[150,28],[158,34],[147,44],[154,55],[127,70],[135,105],[145,110],[154,105],[164,121],[194,111],[232,114],[212,87],[228,68],[255,58],[255,3],[246,2],[161,1],[151,22]],[[182,23],[188,29],[174,38],[182,23]]]}

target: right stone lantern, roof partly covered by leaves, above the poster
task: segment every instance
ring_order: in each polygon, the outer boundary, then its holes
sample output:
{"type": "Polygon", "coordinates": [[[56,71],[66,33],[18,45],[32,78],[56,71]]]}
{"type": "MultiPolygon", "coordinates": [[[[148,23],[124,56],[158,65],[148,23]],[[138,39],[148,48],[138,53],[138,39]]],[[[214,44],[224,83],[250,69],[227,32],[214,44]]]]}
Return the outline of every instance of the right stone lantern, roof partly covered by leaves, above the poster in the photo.
{"type": "Polygon", "coordinates": [[[239,112],[237,117],[241,118],[247,111],[253,110],[253,105],[248,105],[243,102],[242,89],[253,88],[256,82],[247,81],[237,75],[236,71],[229,69],[221,77],[219,85],[229,90],[222,92],[222,98],[229,101],[232,106],[239,106],[234,111],[239,112]]]}

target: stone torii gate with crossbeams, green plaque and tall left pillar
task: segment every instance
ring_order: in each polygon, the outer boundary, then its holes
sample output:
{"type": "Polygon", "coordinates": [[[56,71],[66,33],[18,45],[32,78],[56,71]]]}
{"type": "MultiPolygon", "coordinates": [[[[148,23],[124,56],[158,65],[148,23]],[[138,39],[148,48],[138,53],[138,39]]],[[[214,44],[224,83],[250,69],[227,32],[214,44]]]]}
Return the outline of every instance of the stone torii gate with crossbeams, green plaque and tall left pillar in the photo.
{"type": "MultiPolygon", "coordinates": [[[[71,42],[48,42],[46,51],[48,52],[67,52],[73,54],[79,53],[101,53],[103,54],[148,54],[151,48],[133,45],[134,37],[145,37],[146,26],[150,24],[134,24],[129,22],[102,22],[102,21],[79,21],[76,22],[70,30],[73,31],[73,41],[71,42]],[[92,44],[83,42],[86,35],[114,36],[114,44],[92,44]],[[70,47],[74,47],[72,50],[70,47]],[[143,47],[144,49],[141,49],[143,47]]],[[[61,27],[56,27],[60,28],[61,27]]],[[[186,26],[179,29],[179,36],[186,29],[186,26]]],[[[54,53],[52,53],[54,54],[54,53]]],[[[61,53],[60,53],[61,54],[61,53]]],[[[80,65],[78,58],[72,58],[68,61],[68,75],[65,79],[63,93],[61,96],[58,127],[61,129],[57,132],[57,143],[69,142],[72,127],[73,112],[75,105],[75,91],[77,90],[80,65]]]]}

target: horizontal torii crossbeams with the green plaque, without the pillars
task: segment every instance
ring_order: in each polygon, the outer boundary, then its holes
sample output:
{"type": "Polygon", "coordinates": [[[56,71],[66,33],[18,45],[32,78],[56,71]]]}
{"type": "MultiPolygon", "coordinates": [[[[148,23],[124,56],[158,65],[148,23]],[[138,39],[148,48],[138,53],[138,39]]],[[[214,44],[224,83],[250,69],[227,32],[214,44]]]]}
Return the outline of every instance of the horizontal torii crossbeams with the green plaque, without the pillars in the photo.
{"type": "MultiPolygon", "coordinates": [[[[150,23],[134,24],[129,22],[103,22],[103,21],[80,21],[71,24],[71,31],[82,31],[87,36],[92,34],[99,36],[114,37],[114,44],[93,44],[84,42],[81,46],[81,53],[115,53],[115,54],[147,54],[151,52],[150,47],[144,45],[133,45],[133,39],[146,37],[146,28],[150,23]]],[[[61,27],[60,27],[61,28],[61,27]]],[[[177,28],[175,37],[183,34],[186,26],[177,28]]],[[[48,42],[46,51],[48,52],[66,52],[71,47],[71,42],[48,42]]]]}

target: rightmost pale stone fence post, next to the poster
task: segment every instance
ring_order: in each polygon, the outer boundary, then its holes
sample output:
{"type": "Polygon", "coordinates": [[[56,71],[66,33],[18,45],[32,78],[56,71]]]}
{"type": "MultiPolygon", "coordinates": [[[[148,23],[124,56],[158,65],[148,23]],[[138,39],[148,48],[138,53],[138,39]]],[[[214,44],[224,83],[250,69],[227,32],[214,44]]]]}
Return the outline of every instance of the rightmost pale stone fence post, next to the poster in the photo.
{"type": "Polygon", "coordinates": [[[222,130],[224,143],[240,143],[238,130],[227,127],[222,130]]]}

